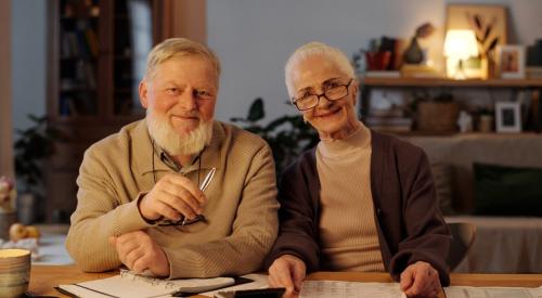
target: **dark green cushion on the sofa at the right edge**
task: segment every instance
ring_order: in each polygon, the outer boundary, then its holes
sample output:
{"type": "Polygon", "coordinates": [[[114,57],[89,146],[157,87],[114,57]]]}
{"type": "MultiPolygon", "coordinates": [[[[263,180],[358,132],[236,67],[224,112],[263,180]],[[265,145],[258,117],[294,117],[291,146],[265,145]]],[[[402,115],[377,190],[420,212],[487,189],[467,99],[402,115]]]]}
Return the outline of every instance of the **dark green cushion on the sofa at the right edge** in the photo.
{"type": "Polygon", "coordinates": [[[542,169],[474,164],[476,215],[542,216],[542,169]]]}

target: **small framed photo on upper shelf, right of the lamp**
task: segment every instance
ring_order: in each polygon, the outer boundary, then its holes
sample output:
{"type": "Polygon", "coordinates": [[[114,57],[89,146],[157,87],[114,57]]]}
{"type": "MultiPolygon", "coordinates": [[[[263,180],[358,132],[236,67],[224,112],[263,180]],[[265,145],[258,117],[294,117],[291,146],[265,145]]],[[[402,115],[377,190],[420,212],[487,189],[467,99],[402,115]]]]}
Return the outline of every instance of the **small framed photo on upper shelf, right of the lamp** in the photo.
{"type": "Polygon", "coordinates": [[[503,79],[525,78],[525,48],[512,44],[499,46],[496,65],[503,79]]]}

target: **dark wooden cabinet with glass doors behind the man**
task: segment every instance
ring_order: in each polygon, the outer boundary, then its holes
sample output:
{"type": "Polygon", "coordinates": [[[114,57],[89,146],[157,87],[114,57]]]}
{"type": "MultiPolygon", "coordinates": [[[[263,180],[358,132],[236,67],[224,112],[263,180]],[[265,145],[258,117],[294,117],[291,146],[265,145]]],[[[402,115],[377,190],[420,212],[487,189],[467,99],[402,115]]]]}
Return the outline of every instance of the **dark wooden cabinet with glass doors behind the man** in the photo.
{"type": "Polygon", "coordinates": [[[90,144],[144,116],[138,85],[163,38],[162,1],[54,0],[49,5],[50,125],[63,132],[46,169],[47,221],[67,221],[90,144]]]}

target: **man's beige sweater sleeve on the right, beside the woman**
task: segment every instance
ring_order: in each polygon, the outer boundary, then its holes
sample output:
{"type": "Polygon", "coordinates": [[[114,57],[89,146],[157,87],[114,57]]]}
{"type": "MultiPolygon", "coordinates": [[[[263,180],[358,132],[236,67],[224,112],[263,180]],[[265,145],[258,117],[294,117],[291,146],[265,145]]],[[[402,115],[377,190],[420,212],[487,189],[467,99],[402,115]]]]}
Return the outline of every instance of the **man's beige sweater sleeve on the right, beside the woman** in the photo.
{"type": "Polygon", "coordinates": [[[278,209],[274,163],[266,145],[251,158],[231,235],[203,244],[164,247],[170,278],[242,275],[260,270],[276,237],[278,209]]]}

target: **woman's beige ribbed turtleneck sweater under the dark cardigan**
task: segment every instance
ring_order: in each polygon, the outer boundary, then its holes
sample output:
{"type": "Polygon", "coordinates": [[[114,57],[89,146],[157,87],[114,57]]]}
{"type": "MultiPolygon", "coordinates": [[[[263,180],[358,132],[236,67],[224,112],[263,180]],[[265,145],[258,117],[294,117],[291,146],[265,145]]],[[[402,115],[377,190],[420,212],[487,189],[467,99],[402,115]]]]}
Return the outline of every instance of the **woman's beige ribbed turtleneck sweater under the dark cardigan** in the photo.
{"type": "Polygon", "coordinates": [[[321,268],[384,272],[371,193],[371,131],[363,125],[345,140],[317,147],[321,268]]]}

